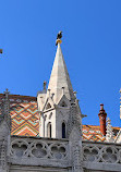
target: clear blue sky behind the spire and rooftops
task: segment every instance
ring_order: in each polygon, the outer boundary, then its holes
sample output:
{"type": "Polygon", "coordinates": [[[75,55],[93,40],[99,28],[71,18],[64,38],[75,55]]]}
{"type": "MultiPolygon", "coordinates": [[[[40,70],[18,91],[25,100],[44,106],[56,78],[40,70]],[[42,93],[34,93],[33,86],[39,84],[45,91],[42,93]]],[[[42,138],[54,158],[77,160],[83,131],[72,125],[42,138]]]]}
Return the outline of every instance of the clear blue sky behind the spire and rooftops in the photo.
{"type": "Polygon", "coordinates": [[[36,96],[49,81],[56,37],[62,52],[83,124],[99,124],[99,105],[121,126],[121,0],[1,0],[0,93],[36,96]]]}

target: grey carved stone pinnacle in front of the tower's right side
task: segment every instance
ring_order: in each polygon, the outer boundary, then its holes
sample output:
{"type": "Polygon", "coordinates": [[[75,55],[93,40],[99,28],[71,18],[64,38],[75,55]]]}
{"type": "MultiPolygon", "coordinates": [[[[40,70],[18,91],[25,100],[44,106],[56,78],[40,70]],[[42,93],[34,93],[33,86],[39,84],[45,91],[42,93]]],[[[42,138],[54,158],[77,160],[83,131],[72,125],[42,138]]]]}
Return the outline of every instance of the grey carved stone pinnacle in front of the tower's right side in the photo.
{"type": "Polygon", "coordinates": [[[82,123],[81,114],[77,113],[77,107],[73,103],[70,109],[68,125],[68,136],[70,143],[70,162],[72,172],[83,172],[82,161],[82,123]]]}

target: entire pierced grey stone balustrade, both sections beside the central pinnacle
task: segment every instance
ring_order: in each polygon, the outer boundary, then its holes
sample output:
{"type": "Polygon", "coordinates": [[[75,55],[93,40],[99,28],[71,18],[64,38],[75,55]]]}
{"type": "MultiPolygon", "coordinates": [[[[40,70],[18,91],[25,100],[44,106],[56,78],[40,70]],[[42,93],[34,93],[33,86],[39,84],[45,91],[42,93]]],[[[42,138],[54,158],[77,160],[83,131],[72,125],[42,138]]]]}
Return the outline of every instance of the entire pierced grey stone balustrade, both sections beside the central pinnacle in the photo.
{"type": "MultiPolygon", "coordinates": [[[[83,142],[82,165],[88,171],[121,171],[121,145],[83,142]]],[[[11,165],[43,165],[71,169],[68,139],[12,136],[11,165]]]]}

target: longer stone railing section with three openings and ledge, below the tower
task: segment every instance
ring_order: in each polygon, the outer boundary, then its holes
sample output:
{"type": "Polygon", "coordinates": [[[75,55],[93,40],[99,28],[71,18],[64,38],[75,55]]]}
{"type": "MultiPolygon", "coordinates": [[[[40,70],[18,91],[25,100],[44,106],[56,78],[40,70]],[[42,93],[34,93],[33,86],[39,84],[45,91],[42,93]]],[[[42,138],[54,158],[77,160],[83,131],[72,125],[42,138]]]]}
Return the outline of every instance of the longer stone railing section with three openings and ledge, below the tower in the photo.
{"type": "Polygon", "coordinates": [[[12,136],[10,161],[13,164],[69,165],[69,144],[65,139],[12,136]],[[53,163],[56,162],[56,163],[53,163]]]}

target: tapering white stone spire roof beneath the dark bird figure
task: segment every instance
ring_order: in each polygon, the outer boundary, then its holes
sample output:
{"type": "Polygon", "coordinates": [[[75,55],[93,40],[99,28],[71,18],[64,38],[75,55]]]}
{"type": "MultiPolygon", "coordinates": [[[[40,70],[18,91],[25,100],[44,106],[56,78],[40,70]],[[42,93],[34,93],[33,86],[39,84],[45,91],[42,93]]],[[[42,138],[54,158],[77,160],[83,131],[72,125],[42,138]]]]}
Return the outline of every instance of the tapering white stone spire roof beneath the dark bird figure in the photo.
{"type": "Polygon", "coordinates": [[[50,94],[55,94],[53,96],[55,103],[57,103],[60,100],[61,95],[63,94],[62,88],[64,88],[64,95],[66,96],[66,98],[71,100],[71,98],[73,97],[73,88],[63,59],[60,42],[58,42],[57,53],[48,85],[48,89],[50,89],[50,94]]]}

